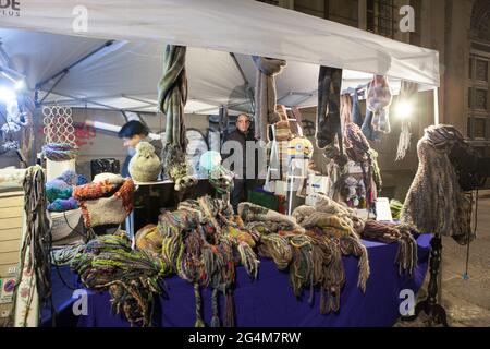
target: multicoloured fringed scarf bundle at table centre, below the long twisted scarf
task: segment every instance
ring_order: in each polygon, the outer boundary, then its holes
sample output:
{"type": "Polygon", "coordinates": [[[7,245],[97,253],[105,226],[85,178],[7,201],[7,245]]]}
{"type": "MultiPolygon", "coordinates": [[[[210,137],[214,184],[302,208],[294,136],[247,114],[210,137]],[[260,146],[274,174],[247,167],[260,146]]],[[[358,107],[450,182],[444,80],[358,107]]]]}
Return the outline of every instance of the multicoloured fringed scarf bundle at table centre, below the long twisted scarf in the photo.
{"type": "Polygon", "coordinates": [[[233,220],[230,203],[210,196],[184,201],[176,210],[162,212],[158,230],[163,262],[173,273],[194,284],[195,326],[205,326],[201,287],[213,290],[211,326],[220,325],[217,306],[219,292],[226,297],[224,326],[234,326],[235,267],[242,264],[250,277],[255,278],[259,262],[253,251],[254,237],[233,220]]]}

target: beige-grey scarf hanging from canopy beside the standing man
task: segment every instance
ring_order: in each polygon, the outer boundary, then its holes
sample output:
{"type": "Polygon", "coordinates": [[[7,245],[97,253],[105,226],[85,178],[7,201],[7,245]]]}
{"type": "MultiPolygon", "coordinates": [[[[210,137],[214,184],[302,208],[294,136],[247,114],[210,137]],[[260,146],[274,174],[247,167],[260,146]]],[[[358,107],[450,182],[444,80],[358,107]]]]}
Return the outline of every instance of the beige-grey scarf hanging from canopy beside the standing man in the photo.
{"type": "Polygon", "coordinates": [[[252,56],[257,68],[255,86],[255,139],[269,143],[268,125],[281,120],[275,111],[275,75],[280,74],[286,62],[282,59],[252,56]]]}

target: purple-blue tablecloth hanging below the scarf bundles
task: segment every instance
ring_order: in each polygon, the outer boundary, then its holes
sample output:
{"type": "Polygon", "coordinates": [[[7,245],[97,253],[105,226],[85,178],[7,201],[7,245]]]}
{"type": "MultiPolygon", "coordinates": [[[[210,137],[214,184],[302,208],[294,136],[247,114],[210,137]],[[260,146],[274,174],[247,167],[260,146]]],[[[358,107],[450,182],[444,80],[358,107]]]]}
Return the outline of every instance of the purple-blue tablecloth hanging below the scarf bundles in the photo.
{"type": "MultiPolygon", "coordinates": [[[[309,291],[296,299],[289,284],[289,275],[279,272],[271,260],[261,258],[259,277],[252,281],[243,267],[236,272],[234,302],[236,326],[305,327],[305,326],[392,326],[400,317],[399,306],[403,299],[400,291],[411,289],[416,293],[427,273],[431,236],[420,236],[418,266],[415,276],[399,276],[395,265],[397,244],[363,241],[368,249],[370,277],[366,293],[357,287],[358,260],[344,257],[345,287],[341,296],[339,313],[320,315],[319,291],[315,303],[307,302],[309,291]]],[[[62,269],[63,279],[74,282],[76,275],[62,269]]],[[[76,282],[75,282],[76,284],[76,282]]],[[[168,298],[160,297],[156,306],[156,326],[193,326],[195,322],[194,289],[191,284],[171,277],[166,279],[168,298]]],[[[108,292],[88,292],[88,314],[75,316],[72,312],[72,291],[60,282],[59,273],[53,274],[54,304],[60,311],[58,326],[130,326],[121,315],[112,315],[108,292]]],[[[211,291],[203,290],[205,322],[211,320],[211,291]]],[[[224,313],[224,297],[220,297],[220,315],[224,313]]],[[[49,314],[44,311],[44,324],[49,325],[49,314]]]]}

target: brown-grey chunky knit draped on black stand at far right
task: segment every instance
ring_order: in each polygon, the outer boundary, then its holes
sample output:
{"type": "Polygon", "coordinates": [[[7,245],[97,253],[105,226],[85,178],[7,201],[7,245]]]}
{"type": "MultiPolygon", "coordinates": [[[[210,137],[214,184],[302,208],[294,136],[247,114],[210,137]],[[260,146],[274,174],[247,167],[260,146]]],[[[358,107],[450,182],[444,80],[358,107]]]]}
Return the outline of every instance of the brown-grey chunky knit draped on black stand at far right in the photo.
{"type": "Polygon", "coordinates": [[[471,203],[462,191],[449,154],[454,144],[463,143],[452,125],[432,125],[418,141],[418,169],[402,209],[402,221],[422,233],[451,236],[467,244],[471,231],[471,203]]]}

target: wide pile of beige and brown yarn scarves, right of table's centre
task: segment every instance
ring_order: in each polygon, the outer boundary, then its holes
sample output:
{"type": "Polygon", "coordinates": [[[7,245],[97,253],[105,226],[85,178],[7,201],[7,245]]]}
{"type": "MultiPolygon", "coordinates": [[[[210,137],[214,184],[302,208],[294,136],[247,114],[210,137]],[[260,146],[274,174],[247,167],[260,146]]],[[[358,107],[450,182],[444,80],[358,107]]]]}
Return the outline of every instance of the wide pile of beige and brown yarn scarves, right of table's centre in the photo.
{"type": "Polygon", "coordinates": [[[297,207],[293,217],[250,203],[238,204],[238,215],[245,228],[259,237],[259,254],[272,258],[278,269],[289,269],[296,297],[309,289],[313,303],[314,289],[320,288],[321,314],[340,309],[340,293],[345,284],[342,255],[359,257],[358,286],[363,291],[366,289],[367,250],[356,232],[364,229],[364,224],[347,207],[324,196],[316,207],[297,207]]]}

